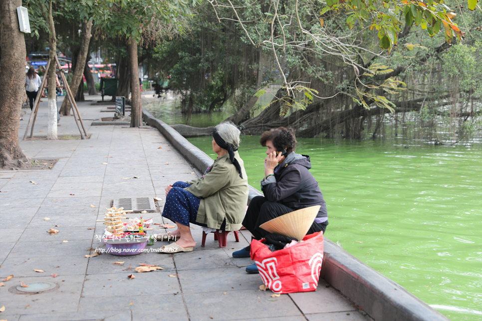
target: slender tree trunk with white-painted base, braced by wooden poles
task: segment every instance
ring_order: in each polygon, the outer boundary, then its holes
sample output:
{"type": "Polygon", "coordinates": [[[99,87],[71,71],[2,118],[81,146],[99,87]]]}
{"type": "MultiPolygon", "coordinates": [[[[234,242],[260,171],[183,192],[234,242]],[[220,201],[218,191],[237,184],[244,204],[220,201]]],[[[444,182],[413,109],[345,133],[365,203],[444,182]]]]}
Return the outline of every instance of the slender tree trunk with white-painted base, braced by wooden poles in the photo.
{"type": "Polygon", "coordinates": [[[55,63],[55,56],[57,55],[57,38],[55,35],[55,26],[52,17],[52,0],[48,2],[48,45],[50,66],[48,68],[48,125],[47,125],[47,139],[56,140],[57,138],[57,82],[55,77],[55,70],[57,64],[55,63]]]}

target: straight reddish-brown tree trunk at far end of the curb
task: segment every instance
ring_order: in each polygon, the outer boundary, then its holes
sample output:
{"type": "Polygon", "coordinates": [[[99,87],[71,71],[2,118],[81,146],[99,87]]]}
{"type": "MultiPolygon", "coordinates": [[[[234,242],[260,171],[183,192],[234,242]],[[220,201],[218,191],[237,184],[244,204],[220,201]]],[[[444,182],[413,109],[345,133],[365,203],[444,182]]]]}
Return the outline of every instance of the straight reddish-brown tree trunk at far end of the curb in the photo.
{"type": "Polygon", "coordinates": [[[127,40],[129,51],[129,71],[131,73],[131,127],[142,126],[141,88],[139,87],[139,65],[137,63],[137,41],[127,40]]]}

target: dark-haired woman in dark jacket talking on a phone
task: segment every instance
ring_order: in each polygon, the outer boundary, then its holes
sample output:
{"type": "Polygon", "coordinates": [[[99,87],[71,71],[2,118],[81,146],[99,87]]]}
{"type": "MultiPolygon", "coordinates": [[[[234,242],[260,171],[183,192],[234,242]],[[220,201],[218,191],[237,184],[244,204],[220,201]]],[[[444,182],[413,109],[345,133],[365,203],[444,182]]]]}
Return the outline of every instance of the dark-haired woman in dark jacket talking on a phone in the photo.
{"type": "MultiPolygon", "coordinates": [[[[292,211],[320,205],[318,214],[308,230],[308,234],[326,230],[328,214],[323,193],[318,182],[309,172],[310,158],[299,155],[296,149],[296,137],[292,129],[279,127],[266,131],[259,140],[266,147],[264,159],[264,178],[261,190],[264,196],[256,196],[249,203],[242,225],[256,240],[268,234],[259,226],[273,218],[292,211]]],[[[233,252],[233,257],[249,257],[250,246],[233,252]]],[[[246,268],[247,273],[258,273],[256,264],[246,268]]]]}

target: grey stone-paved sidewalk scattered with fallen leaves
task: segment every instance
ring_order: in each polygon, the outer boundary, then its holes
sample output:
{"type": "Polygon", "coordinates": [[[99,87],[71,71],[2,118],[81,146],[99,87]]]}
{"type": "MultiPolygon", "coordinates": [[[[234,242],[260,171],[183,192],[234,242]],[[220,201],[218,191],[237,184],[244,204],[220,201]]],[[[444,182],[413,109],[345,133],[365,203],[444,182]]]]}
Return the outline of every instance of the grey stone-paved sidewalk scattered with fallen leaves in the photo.
{"type": "MultiPolygon", "coordinates": [[[[0,308],[5,307],[0,320],[370,320],[323,280],[316,292],[273,298],[269,290],[260,291],[259,275],[244,271],[251,261],[231,257],[233,251],[248,245],[245,231],[240,233],[240,243],[230,234],[227,248],[218,248],[213,234],[206,247],[201,247],[202,229],[193,226],[198,243],[193,252],[85,258],[93,253],[88,249],[101,245],[96,236],[102,234],[104,225],[96,220],[103,218],[113,199],[164,199],[166,185],[200,173],[157,129],[91,127],[92,120],[113,113],[101,113],[105,106],[92,106],[90,101],[78,106],[90,140],[21,141],[28,158],[60,159],[51,170],[0,171],[0,278],[14,276],[0,287],[0,308]],[[123,179],[134,176],[140,178],[123,179]],[[51,227],[58,234],[49,235],[46,231],[51,227]],[[125,263],[114,265],[117,261],[125,263]],[[133,269],[142,263],[165,270],[136,273],[133,269]],[[130,274],[135,279],[129,280],[130,274]],[[17,294],[20,281],[53,282],[57,288],[17,294]]],[[[22,113],[26,115],[20,121],[20,140],[30,110],[22,113]]],[[[34,136],[45,135],[46,124],[43,99],[34,136]]],[[[71,116],[61,117],[60,125],[59,135],[79,134],[71,116]]],[[[159,202],[161,209],[163,204],[159,202]]],[[[145,214],[149,217],[155,223],[172,223],[163,221],[161,213],[145,214]]],[[[154,233],[164,232],[160,225],[154,227],[154,233]]],[[[156,242],[150,248],[163,244],[156,242]]]]}

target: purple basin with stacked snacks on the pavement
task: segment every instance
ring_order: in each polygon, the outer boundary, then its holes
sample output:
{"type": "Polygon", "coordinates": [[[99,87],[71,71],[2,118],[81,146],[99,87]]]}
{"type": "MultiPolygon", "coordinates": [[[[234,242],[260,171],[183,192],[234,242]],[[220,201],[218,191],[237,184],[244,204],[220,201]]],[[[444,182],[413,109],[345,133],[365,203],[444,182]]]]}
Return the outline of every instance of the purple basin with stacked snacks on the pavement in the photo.
{"type": "Polygon", "coordinates": [[[152,230],[149,224],[152,223],[152,218],[149,220],[130,218],[129,222],[122,222],[122,219],[127,219],[126,212],[122,207],[111,207],[105,213],[104,221],[107,228],[104,231],[104,242],[107,247],[107,253],[119,256],[136,255],[142,253],[146,247],[146,242],[150,235],[148,231],[152,230]]]}

